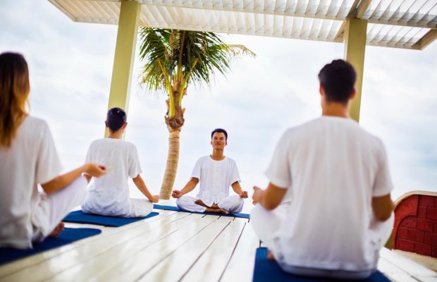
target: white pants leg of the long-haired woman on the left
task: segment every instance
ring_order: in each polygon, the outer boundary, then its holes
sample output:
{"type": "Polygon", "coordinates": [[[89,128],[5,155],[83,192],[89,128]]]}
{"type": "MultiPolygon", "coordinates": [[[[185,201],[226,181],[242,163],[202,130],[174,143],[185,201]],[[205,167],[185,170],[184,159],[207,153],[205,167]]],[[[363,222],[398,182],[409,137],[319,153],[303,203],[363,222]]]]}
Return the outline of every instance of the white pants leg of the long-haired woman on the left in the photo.
{"type": "Polygon", "coordinates": [[[80,206],[87,197],[87,180],[80,176],[61,190],[40,195],[41,200],[32,215],[32,242],[39,243],[54,230],[71,209],[80,206]],[[35,225],[36,223],[36,225],[35,225]]]}

